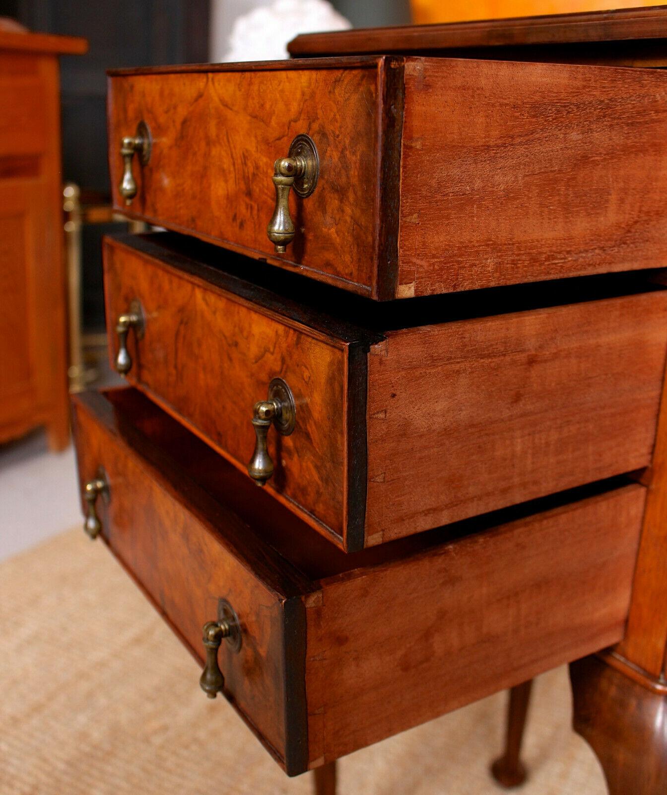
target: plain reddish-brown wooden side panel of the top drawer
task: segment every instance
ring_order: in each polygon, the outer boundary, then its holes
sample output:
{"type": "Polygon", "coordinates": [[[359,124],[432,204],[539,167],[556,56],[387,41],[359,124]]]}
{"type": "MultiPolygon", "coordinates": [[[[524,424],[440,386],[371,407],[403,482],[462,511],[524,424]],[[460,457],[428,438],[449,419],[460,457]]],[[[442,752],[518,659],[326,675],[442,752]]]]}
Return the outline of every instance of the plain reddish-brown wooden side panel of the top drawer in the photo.
{"type": "Polygon", "coordinates": [[[399,295],[664,262],[665,77],[407,59],[399,295]]]}

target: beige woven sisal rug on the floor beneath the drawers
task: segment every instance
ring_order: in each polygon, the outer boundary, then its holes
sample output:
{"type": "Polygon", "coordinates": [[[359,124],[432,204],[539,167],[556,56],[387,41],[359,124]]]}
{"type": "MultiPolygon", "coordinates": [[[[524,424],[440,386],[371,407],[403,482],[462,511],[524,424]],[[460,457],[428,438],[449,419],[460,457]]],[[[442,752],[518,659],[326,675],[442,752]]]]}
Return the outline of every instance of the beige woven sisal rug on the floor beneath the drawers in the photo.
{"type": "MultiPolygon", "coordinates": [[[[80,530],[0,564],[0,793],[310,795],[310,776],[287,778],[198,677],[80,530]]],[[[501,693],[342,759],[341,795],[498,795],[504,708],[501,693]]],[[[521,795],[606,793],[570,710],[565,669],[540,677],[521,795]]]]}

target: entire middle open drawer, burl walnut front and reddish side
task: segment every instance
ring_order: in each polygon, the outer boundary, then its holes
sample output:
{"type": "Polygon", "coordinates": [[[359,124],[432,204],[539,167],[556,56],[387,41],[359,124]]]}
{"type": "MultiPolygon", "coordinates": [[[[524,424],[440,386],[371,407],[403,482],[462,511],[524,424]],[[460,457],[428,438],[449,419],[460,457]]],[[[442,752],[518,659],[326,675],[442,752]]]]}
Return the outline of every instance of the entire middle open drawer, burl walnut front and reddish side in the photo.
{"type": "MultiPolygon", "coordinates": [[[[650,463],[665,291],[481,317],[510,299],[473,294],[399,312],[213,246],[197,243],[190,259],[195,242],[174,237],[106,241],[112,360],[125,339],[128,381],[242,471],[253,407],[282,379],[295,421],[264,430],[265,488],[344,549],[650,463]],[[258,271],[277,284],[236,275],[258,271]],[[137,301],[141,332],[119,337],[137,301]],[[462,307],[473,316],[441,322],[462,307]],[[406,328],[384,325],[397,319],[406,328]]],[[[571,289],[566,300],[584,291],[571,289]]]]}

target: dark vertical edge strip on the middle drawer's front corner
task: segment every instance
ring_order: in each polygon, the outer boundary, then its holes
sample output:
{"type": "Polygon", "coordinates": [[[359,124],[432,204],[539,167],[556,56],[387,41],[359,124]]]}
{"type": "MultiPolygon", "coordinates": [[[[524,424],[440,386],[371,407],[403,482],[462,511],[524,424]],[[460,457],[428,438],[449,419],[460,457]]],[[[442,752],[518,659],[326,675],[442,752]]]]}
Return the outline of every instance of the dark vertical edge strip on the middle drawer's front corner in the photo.
{"type": "Polygon", "coordinates": [[[368,440],[366,439],[366,397],[368,392],[368,347],[348,348],[347,394],[347,479],[348,504],[345,552],[364,549],[366,488],[368,481],[368,440]]]}

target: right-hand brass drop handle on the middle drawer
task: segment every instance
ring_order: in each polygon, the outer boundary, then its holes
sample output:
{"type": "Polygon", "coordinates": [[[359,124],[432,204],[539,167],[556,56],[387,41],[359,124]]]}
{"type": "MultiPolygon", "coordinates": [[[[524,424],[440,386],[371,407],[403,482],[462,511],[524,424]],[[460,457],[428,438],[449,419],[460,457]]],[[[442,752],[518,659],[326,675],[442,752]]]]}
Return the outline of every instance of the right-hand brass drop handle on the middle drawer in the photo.
{"type": "Polygon", "coordinates": [[[255,429],[255,451],[248,464],[248,474],[257,486],[264,486],[273,475],[273,462],[266,444],[268,429],[276,425],[282,436],[289,436],[296,423],[294,397],[282,378],[274,378],[268,385],[268,399],[255,404],[252,422],[255,429]]]}

